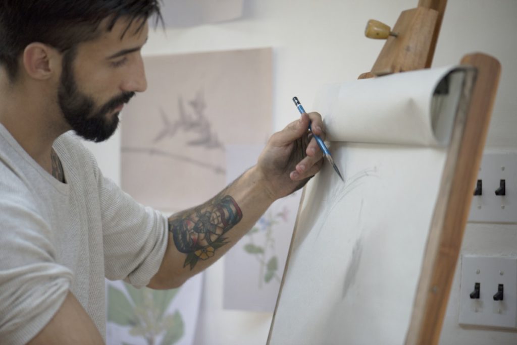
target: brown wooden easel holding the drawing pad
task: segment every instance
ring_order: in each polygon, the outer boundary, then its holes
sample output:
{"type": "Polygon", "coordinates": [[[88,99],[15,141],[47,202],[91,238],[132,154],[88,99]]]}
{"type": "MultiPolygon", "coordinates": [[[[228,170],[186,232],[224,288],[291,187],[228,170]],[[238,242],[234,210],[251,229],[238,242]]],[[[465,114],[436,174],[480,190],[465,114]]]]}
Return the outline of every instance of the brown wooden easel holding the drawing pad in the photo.
{"type": "MultiPolygon", "coordinates": [[[[403,11],[372,70],[359,79],[431,67],[446,5],[419,0],[417,8],[403,11]]],[[[497,59],[475,53],[461,64],[475,67],[477,80],[464,121],[455,123],[446,163],[451,174],[440,186],[444,207],[433,215],[406,344],[439,341],[499,83],[497,59]]]]}

